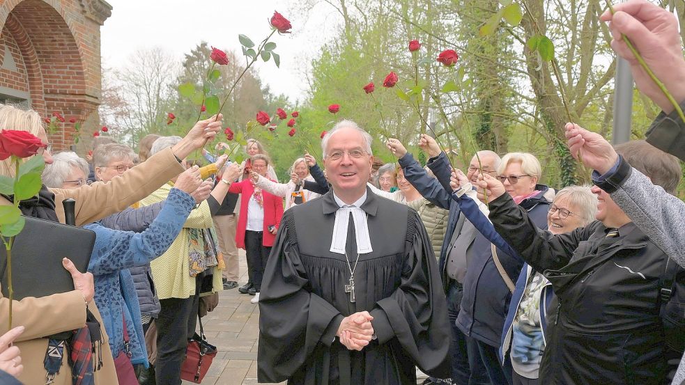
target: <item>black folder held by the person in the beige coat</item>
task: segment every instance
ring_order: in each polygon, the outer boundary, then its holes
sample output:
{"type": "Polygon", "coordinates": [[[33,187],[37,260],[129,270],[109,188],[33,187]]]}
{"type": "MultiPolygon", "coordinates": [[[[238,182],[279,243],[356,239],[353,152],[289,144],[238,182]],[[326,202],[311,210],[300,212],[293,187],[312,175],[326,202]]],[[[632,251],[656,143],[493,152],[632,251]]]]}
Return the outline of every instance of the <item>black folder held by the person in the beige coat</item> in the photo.
{"type": "MultiPolygon", "coordinates": [[[[79,272],[86,272],[91,260],[95,233],[76,226],[45,219],[26,218],[26,226],[12,246],[14,299],[45,297],[74,290],[71,274],[64,269],[67,257],[79,272]]],[[[0,243],[0,284],[8,296],[7,252],[0,243]]]]}

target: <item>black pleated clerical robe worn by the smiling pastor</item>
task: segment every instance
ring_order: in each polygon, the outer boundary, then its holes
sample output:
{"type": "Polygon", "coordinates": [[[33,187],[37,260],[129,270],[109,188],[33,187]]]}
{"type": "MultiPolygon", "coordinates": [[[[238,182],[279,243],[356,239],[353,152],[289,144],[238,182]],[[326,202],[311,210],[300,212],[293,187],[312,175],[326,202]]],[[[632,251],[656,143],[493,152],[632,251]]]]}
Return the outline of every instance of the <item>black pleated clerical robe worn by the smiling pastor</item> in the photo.
{"type": "Polygon", "coordinates": [[[329,251],[338,208],[329,191],[283,216],[259,298],[259,382],[415,385],[415,366],[449,377],[445,295],[417,212],[367,190],[374,251],[359,257],[353,303],[346,258],[329,251]],[[374,316],[377,336],[361,352],[335,338],[357,311],[374,316]]]}

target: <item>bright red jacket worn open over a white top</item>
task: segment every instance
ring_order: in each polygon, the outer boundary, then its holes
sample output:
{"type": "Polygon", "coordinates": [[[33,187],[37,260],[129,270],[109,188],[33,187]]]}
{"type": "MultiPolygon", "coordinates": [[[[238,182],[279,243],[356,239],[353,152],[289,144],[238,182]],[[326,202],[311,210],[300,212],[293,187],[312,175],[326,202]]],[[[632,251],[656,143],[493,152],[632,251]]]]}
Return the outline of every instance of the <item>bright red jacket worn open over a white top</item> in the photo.
{"type": "MultiPolygon", "coordinates": [[[[236,246],[245,249],[245,229],[247,228],[247,203],[252,198],[254,187],[251,179],[247,178],[241,182],[233,182],[229,186],[229,192],[242,194],[240,196],[240,215],[238,215],[238,227],[236,228],[236,246]]],[[[269,226],[279,227],[281,217],[283,217],[283,198],[269,194],[262,190],[262,201],[264,207],[264,228],[263,246],[273,246],[276,236],[269,231],[269,226]]]]}

